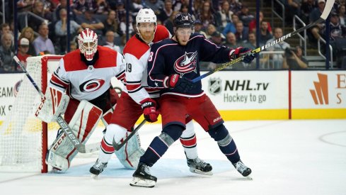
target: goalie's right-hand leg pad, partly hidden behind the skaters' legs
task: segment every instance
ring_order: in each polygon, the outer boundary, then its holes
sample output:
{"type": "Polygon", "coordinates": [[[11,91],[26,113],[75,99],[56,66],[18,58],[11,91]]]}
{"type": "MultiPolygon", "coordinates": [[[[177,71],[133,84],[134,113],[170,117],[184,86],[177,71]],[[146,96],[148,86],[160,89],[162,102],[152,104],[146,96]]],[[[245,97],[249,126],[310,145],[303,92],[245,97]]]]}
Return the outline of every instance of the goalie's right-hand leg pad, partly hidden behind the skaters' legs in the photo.
{"type": "MultiPolygon", "coordinates": [[[[130,132],[127,132],[127,135],[130,132]]],[[[120,163],[127,169],[136,169],[139,163],[139,158],[144,155],[144,149],[141,147],[138,132],[129,139],[129,141],[115,155],[120,163]]]]}

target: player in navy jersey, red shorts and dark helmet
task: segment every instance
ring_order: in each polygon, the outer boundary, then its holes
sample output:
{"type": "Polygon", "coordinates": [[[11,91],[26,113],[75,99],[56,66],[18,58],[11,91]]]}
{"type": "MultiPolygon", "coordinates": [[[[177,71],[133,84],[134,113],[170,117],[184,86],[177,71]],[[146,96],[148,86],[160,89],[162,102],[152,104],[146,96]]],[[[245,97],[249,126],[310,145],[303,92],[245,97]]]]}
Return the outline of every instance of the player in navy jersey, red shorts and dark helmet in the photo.
{"type": "Polygon", "coordinates": [[[153,187],[157,178],[149,172],[160,157],[178,140],[185,129],[185,116],[189,115],[217,141],[221,152],[244,177],[251,169],[241,162],[238,149],[229,131],[224,126],[219,112],[209,97],[204,94],[201,82],[190,80],[200,76],[199,62],[222,63],[243,55],[249,63],[255,55],[248,48],[230,49],[218,47],[203,35],[194,33],[194,21],[188,13],[178,13],[174,20],[171,39],[151,46],[148,62],[148,85],[161,89],[158,104],[161,106],[161,135],[152,140],[139,160],[133,174],[132,186],[153,187]]]}

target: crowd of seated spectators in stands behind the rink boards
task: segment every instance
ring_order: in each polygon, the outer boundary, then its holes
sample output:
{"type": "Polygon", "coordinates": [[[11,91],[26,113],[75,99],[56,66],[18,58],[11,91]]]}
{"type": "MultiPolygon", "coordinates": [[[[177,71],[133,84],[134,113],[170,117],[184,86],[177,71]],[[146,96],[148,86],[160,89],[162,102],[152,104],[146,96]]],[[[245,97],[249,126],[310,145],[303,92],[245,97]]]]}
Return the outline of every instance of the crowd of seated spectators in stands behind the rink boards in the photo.
{"type": "MultiPolygon", "coordinates": [[[[316,21],[325,6],[325,0],[281,0],[287,8],[287,26],[292,26],[294,15],[299,16],[306,24],[316,21]]],[[[20,0],[18,9],[18,50],[14,50],[13,13],[12,20],[1,24],[0,72],[21,71],[13,61],[13,56],[25,63],[26,57],[44,54],[64,55],[68,51],[76,50],[76,35],[85,28],[92,29],[98,34],[98,44],[105,45],[113,50],[122,52],[127,41],[126,9],[124,0],[71,0],[67,13],[67,0],[20,0]],[[28,11],[30,14],[28,14],[28,11]],[[67,48],[67,15],[71,32],[70,48],[67,48]],[[28,23],[25,23],[28,21],[28,23]]],[[[195,32],[201,33],[217,45],[230,48],[243,46],[255,49],[256,47],[256,13],[249,11],[246,0],[194,0],[189,11],[189,0],[132,0],[129,3],[129,34],[137,32],[135,17],[142,8],[153,9],[158,18],[158,24],[163,24],[173,34],[173,18],[178,12],[192,13],[195,19],[195,32]]],[[[346,15],[345,0],[340,0],[330,14],[330,44],[342,50],[346,43],[346,15]],[[339,43],[339,44],[338,44],[339,43]]],[[[255,10],[255,9],[251,9],[255,10]]],[[[10,11],[11,12],[11,11],[10,11]]],[[[272,28],[271,16],[259,14],[260,45],[275,40],[283,35],[282,28],[272,28]]],[[[319,38],[325,38],[325,23],[318,24],[308,30],[309,47],[319,38]]],[[[305,65],[297,62],[296,67],[308,67],[308,62],[302,55],[299,45],[289,45],[282,42],[271,50],[281,50],[293,56],[292,60],[299,59],[305,65]],[[296,48],[296,46],[298,46],[296,48]],[[291,48],[288,50],[287,48],[291,48]],[[293,50],[292,50],[293,48],[293,50]]],[[[282,54],[261,56],[260,63],[273,62],[275,69],[289,68],[288,58],[282,54]]],[[[213,69],[213,63],[204,63],[205,69],[213,69]]],[[[236,69],[255,69],[256,64],[241,64],[236,69]]]]}

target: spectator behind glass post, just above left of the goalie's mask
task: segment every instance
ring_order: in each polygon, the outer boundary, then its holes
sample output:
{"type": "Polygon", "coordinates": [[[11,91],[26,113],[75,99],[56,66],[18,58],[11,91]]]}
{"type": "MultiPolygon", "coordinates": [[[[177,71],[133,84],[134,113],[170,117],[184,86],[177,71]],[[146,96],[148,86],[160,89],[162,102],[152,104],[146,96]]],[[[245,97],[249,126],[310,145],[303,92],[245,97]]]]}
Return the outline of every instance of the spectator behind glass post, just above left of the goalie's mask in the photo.
{"type": "MultiPolygon", "coordinates": [[[[57,53],[65,54],[67,52],[67,10],[60,9],[60,20],[55,23],[55,35],[57,40],[57,53]]],[[[78,35],[82,28],[75,21],[70,20],[71,37],[78,35]]]]}

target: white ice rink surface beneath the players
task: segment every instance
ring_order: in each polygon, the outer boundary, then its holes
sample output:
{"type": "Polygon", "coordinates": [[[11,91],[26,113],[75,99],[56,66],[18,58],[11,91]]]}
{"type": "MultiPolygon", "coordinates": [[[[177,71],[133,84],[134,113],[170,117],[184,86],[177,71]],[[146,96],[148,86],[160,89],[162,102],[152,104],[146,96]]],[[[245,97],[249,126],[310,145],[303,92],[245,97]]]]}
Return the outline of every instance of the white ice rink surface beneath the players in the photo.
{"type": "MultiPolygon", "coordinates": [[[[134,170],[113,156],[105,172],[91,179],[88,169],[98,154],[78,155],[64,174],[0,172],[0,194],[346,194],[346,120],[226,122],[253,180],[238,174],[217,143],[195,124],[200,158],[214,175],[189,172],[183,147],[175,142],[151,168],[158,177],[152,189],[129,186],[134,170]]],[[[160,125],[139,130],[144,149],[160,125]]],[[[99,142],[96,134],[89,143],[99,142]]]]}

